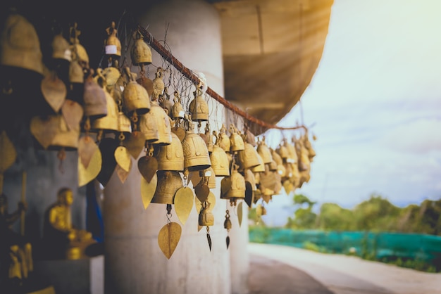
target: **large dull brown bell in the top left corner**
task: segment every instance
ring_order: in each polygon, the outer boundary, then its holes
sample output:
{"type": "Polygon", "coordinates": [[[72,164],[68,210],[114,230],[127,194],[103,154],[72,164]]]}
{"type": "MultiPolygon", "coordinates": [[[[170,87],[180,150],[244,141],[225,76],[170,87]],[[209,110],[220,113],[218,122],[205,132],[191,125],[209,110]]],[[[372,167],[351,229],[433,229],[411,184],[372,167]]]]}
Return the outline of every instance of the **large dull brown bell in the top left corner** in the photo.
{"type": "Polygon", "coordinates": [[[43,75],[44,65],[37,32],[22,15],[12,13],[4,22],[0,36],[0,64],[43,75]]]}

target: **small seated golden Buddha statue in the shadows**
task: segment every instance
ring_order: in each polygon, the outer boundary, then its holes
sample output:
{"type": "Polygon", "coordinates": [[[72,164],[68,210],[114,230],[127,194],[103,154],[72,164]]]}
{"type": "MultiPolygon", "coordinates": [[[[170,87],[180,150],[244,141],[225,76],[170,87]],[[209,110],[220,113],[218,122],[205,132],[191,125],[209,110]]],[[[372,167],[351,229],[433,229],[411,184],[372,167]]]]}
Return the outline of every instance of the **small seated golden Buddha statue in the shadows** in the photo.
{"type": "Polygon", "coordinates": [[[47,258],[76,260],[85,257],[86,248],[96,243],[90,232],[73,227],[72,203],[72,190],[61,188],[56,203],[44,213],[43,246],[47,258]]]}

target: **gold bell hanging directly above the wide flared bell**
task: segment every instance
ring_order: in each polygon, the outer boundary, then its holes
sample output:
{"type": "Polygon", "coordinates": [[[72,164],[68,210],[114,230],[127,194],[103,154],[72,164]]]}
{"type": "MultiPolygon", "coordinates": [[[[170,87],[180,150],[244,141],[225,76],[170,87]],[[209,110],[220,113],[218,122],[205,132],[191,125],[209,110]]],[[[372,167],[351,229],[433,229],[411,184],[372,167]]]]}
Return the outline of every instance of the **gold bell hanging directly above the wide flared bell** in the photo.
{"type": "Polygon", "coordinates": [[[158,160],[158,170],[178,172],[184,170],[184,151],[182,151],[182,144],[175,133],[171,134],[170,145],[159,146],[156,159],[158,160]]]}

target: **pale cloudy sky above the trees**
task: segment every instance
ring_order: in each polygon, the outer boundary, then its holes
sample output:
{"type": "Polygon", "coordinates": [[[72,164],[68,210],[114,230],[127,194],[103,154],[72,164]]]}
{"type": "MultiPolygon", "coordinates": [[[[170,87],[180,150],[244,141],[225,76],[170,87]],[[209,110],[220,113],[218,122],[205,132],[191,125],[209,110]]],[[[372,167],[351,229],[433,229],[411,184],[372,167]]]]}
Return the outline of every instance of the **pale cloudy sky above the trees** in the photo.
{"type": "MultiPolygon", "coordinates": [[[[441,198],[440,15],[440,0],[334,1],[316,73],[279,122],[303,113],[317,136],[296,193],[347,208],[373,193],[401,207],[441,198]]],[[[290,204],[292,194],[273,196],[267,223],[290,204]]]]}

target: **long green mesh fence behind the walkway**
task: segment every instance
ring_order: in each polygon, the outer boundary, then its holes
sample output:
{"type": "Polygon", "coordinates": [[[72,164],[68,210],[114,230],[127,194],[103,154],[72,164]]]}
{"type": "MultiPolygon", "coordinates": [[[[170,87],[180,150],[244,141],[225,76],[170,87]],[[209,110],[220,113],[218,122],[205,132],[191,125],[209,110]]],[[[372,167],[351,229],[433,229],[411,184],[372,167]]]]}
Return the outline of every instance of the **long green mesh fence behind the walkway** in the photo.
{"type": "Polygon", "coordinates": [[[373,233],[359,231],[295,231],[292,229],[250,228],[249,241],[290,245],[327,253],[371,255],[376,259],[411,258],[441,264],[441,236],[423,234],[373,233]]]}

